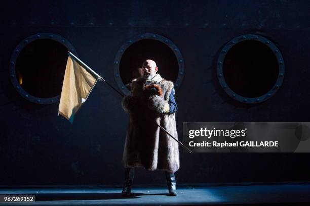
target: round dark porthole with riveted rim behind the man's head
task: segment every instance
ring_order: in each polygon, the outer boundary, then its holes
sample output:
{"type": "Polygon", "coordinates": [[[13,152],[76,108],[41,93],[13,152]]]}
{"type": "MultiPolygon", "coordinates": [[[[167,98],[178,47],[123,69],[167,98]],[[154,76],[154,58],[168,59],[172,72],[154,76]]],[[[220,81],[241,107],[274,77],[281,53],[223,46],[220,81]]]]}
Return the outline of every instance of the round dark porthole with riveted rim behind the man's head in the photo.
{"type": "Polygon", "coordinates": [[[140,34],[128,40],[114,60],[114,77],[124,94],[132,79],[141,76],[142,63],[151,59],[157,63],[158,73],[175,82],[177,90],[184,76],[184,61],[180,50],[169,39],[158,34],[140,34]]]}

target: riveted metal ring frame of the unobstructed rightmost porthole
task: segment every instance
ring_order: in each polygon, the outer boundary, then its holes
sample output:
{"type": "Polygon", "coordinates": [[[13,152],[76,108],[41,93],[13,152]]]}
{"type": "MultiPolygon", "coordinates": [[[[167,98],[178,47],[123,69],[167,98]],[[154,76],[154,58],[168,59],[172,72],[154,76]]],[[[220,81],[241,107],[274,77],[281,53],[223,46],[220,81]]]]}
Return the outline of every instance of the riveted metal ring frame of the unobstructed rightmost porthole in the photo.
{"type": "Polygon", "coordinates": [[[217,78],[218,78],[218,81],[221,87],[228,94],[228,96],[230,96],[231,98],[237,101],[243,102],[245,104],[257,104],[259,102],[265,101],[268,98],[274,96],[283,83],[284,73],[285,73],[285,65],[284,65],[284,60],[280,52],[280,49],[269,39],[263,36],[257,35],[257,34],[245,34],[245,35],[241,35],[241,36],[238,36],[230,40],[221,49],[220,54],[218,56],[218,60],[217,60],[217,78]],[[274,53],[275,57],[277,58],[278,65],[279,65],[279,74],[278,74],[278,78],[274,86],[267,93],[261,96],[258,96],[258,97],[253,97],[253,98],[244,97],[232,91],[232,89],[230,89],[229,86],[227,85],[225,78],[223,76],[223,63],[224,63],[226,54],[228,53],[229,49],[232,46],[242,41],[248,41],[248,40],[259,41],[265,44],[266,46],[268,46],[269,49],[274,53]]]}

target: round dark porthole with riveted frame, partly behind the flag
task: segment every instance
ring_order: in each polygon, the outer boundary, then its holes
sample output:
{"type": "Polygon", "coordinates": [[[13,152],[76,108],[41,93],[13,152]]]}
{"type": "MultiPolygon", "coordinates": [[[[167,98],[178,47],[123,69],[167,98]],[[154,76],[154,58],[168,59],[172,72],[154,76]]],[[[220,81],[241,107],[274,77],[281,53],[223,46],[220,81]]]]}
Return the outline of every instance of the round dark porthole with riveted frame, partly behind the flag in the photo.
{"type": "Polygon", "coordinates": [[[26,99],[38,104],[59,101],[68,50],[73,46],[50,33],[32,35],[14,50],[10,63],[11,80],[26,99]]]}

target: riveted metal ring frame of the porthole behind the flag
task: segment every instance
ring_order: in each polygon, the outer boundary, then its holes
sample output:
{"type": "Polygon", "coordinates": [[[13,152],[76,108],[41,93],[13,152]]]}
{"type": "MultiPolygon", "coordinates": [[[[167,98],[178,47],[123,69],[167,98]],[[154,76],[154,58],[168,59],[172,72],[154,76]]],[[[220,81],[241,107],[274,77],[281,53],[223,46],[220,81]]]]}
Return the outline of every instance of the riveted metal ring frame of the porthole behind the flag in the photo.
{"type": "Polygon", "coordinates": [[[50,97],[50,98],[40,98],[40,97],[36,97],[31,95],[30,93],[28,93],[27,91],[25,91],[22,86],[20,86],[20,84],[18,83],[18,80],[16,78],[16,69],[15,69],[15,63],[17,61],[17,58],[20,54],[20,52],[22,51],[22,49],[28,45],[29,43],[38,40],[38,39],[51,39],[51,40],[55,40],[59,43],[61,43],[62,45],[64,45],[68,51],[70,51],[71,53],[73,53],[75,56],[79,57],[78,54],[76,53],[75,48],[73,47],[73,45],[64,37],[59,36],[57,34],[54,33],[37,33],[31,36],[28,36],[27,38],[23,39],[14,49],[13,54],[11,55],[11,59],[10,59],[10,66],[9,66],[9,70],[10,70],[10,78],[11,78],[11,82],[14,86],[14,88],[17,90],[17,92],[24,97],[25,99],[27,99],[28,101],[34,102],[36,104],[42,104],[42,105],[46,105],[46,104],[54,104],[55,102],[58,102],[60,100],[60,95],[54,96],[54,97],[50,97]]]}

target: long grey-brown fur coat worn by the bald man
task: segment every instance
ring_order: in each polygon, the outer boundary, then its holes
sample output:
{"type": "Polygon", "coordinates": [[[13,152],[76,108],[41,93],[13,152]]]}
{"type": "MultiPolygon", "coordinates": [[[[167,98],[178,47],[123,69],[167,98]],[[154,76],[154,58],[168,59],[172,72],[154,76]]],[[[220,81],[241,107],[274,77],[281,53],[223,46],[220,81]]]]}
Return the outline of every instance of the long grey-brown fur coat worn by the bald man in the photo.
{"type": "Polygon", "coordinates": [[[130,115],[123,166],[176,172],[180,167],[178,143],[154,124],[178,138],[175,114],[163,114],[173,83],[135,79],[130,86],[132,95],[122,100],[123,109],[130,115]]]}

